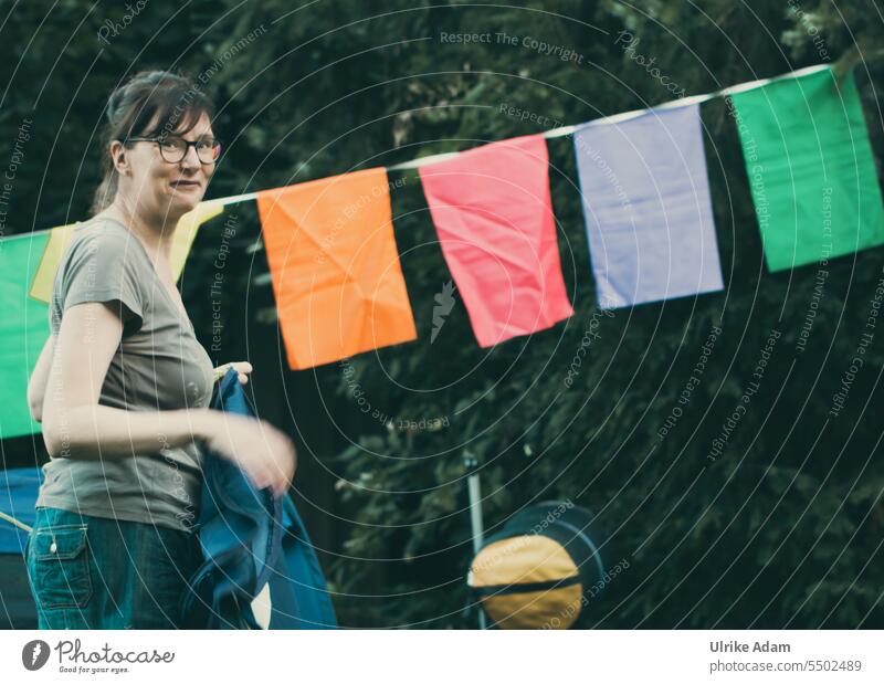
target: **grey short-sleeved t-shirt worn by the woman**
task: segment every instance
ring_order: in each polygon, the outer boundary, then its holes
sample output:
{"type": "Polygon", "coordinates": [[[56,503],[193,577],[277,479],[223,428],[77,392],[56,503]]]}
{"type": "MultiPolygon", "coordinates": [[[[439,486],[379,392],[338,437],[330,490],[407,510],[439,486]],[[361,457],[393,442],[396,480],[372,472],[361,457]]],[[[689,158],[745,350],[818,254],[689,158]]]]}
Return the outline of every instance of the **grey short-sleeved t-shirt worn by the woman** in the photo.
{"type": "MultiPolygon", "coordinates": [[[[85,302],[108,302],[124,320],[98,403],[128,411],[204,408],[212,362],[140,240],[110,219],[77,225],[55,274],[50,326],[85,302]]],[[[84,340],[88,344],[88,339],[84,340]]],[[[162,448],[95,460],[60,454],[43,466],[38,506],[189,529],[202,490],[199,448],[162,448]]]]}

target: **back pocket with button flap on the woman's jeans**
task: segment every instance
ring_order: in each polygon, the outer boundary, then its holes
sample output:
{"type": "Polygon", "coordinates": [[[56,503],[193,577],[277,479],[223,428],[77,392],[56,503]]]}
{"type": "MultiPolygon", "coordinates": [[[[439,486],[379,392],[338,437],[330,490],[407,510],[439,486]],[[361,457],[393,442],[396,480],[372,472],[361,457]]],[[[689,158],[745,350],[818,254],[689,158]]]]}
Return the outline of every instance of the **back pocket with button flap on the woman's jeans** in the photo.
{"type": "Polygon", "coordinates": [[[42,608],[84,608],[92,598],[86,528],[56,525],[33,529],[28,565],[42,608]]]}

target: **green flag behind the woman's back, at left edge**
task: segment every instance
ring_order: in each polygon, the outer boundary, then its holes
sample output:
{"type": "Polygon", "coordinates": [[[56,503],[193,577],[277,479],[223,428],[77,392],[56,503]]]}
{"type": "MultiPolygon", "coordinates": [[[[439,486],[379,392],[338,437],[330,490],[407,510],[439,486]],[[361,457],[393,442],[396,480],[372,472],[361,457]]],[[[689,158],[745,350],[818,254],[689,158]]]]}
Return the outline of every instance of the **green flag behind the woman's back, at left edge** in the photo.
{"type": "Polygon", "coordinates": [[[30,296],[49,233],[0,240],[0,439],[40,432],[28,410],[28,380],[49,337],[49,306],[30,296]]]}

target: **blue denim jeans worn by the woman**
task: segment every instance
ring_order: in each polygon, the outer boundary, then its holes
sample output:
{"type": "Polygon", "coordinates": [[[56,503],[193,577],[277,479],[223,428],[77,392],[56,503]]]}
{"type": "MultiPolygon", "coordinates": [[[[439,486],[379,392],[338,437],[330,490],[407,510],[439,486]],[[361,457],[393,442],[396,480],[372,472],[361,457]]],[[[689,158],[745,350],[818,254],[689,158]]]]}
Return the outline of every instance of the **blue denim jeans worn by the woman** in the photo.
{"type": "Polygon", "coordinates": [[[189,532],[40,507],[25,558],[40,629],[181,629],[202,551],[189,532]]]}

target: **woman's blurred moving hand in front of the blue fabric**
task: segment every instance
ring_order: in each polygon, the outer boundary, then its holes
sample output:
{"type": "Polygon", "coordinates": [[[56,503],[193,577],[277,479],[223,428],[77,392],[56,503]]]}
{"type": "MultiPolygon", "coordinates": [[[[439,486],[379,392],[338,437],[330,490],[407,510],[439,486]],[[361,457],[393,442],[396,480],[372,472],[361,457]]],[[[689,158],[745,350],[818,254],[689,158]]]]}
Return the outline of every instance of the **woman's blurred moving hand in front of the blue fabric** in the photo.
{"type": "Polygon", "coordinates": [[[274,496],[285,494],[297,466],[292,440],[266,421],[209,412],[212,421],[203,434],[207,446],[240,466],[257,488],[272,487],[274,496]]]}

